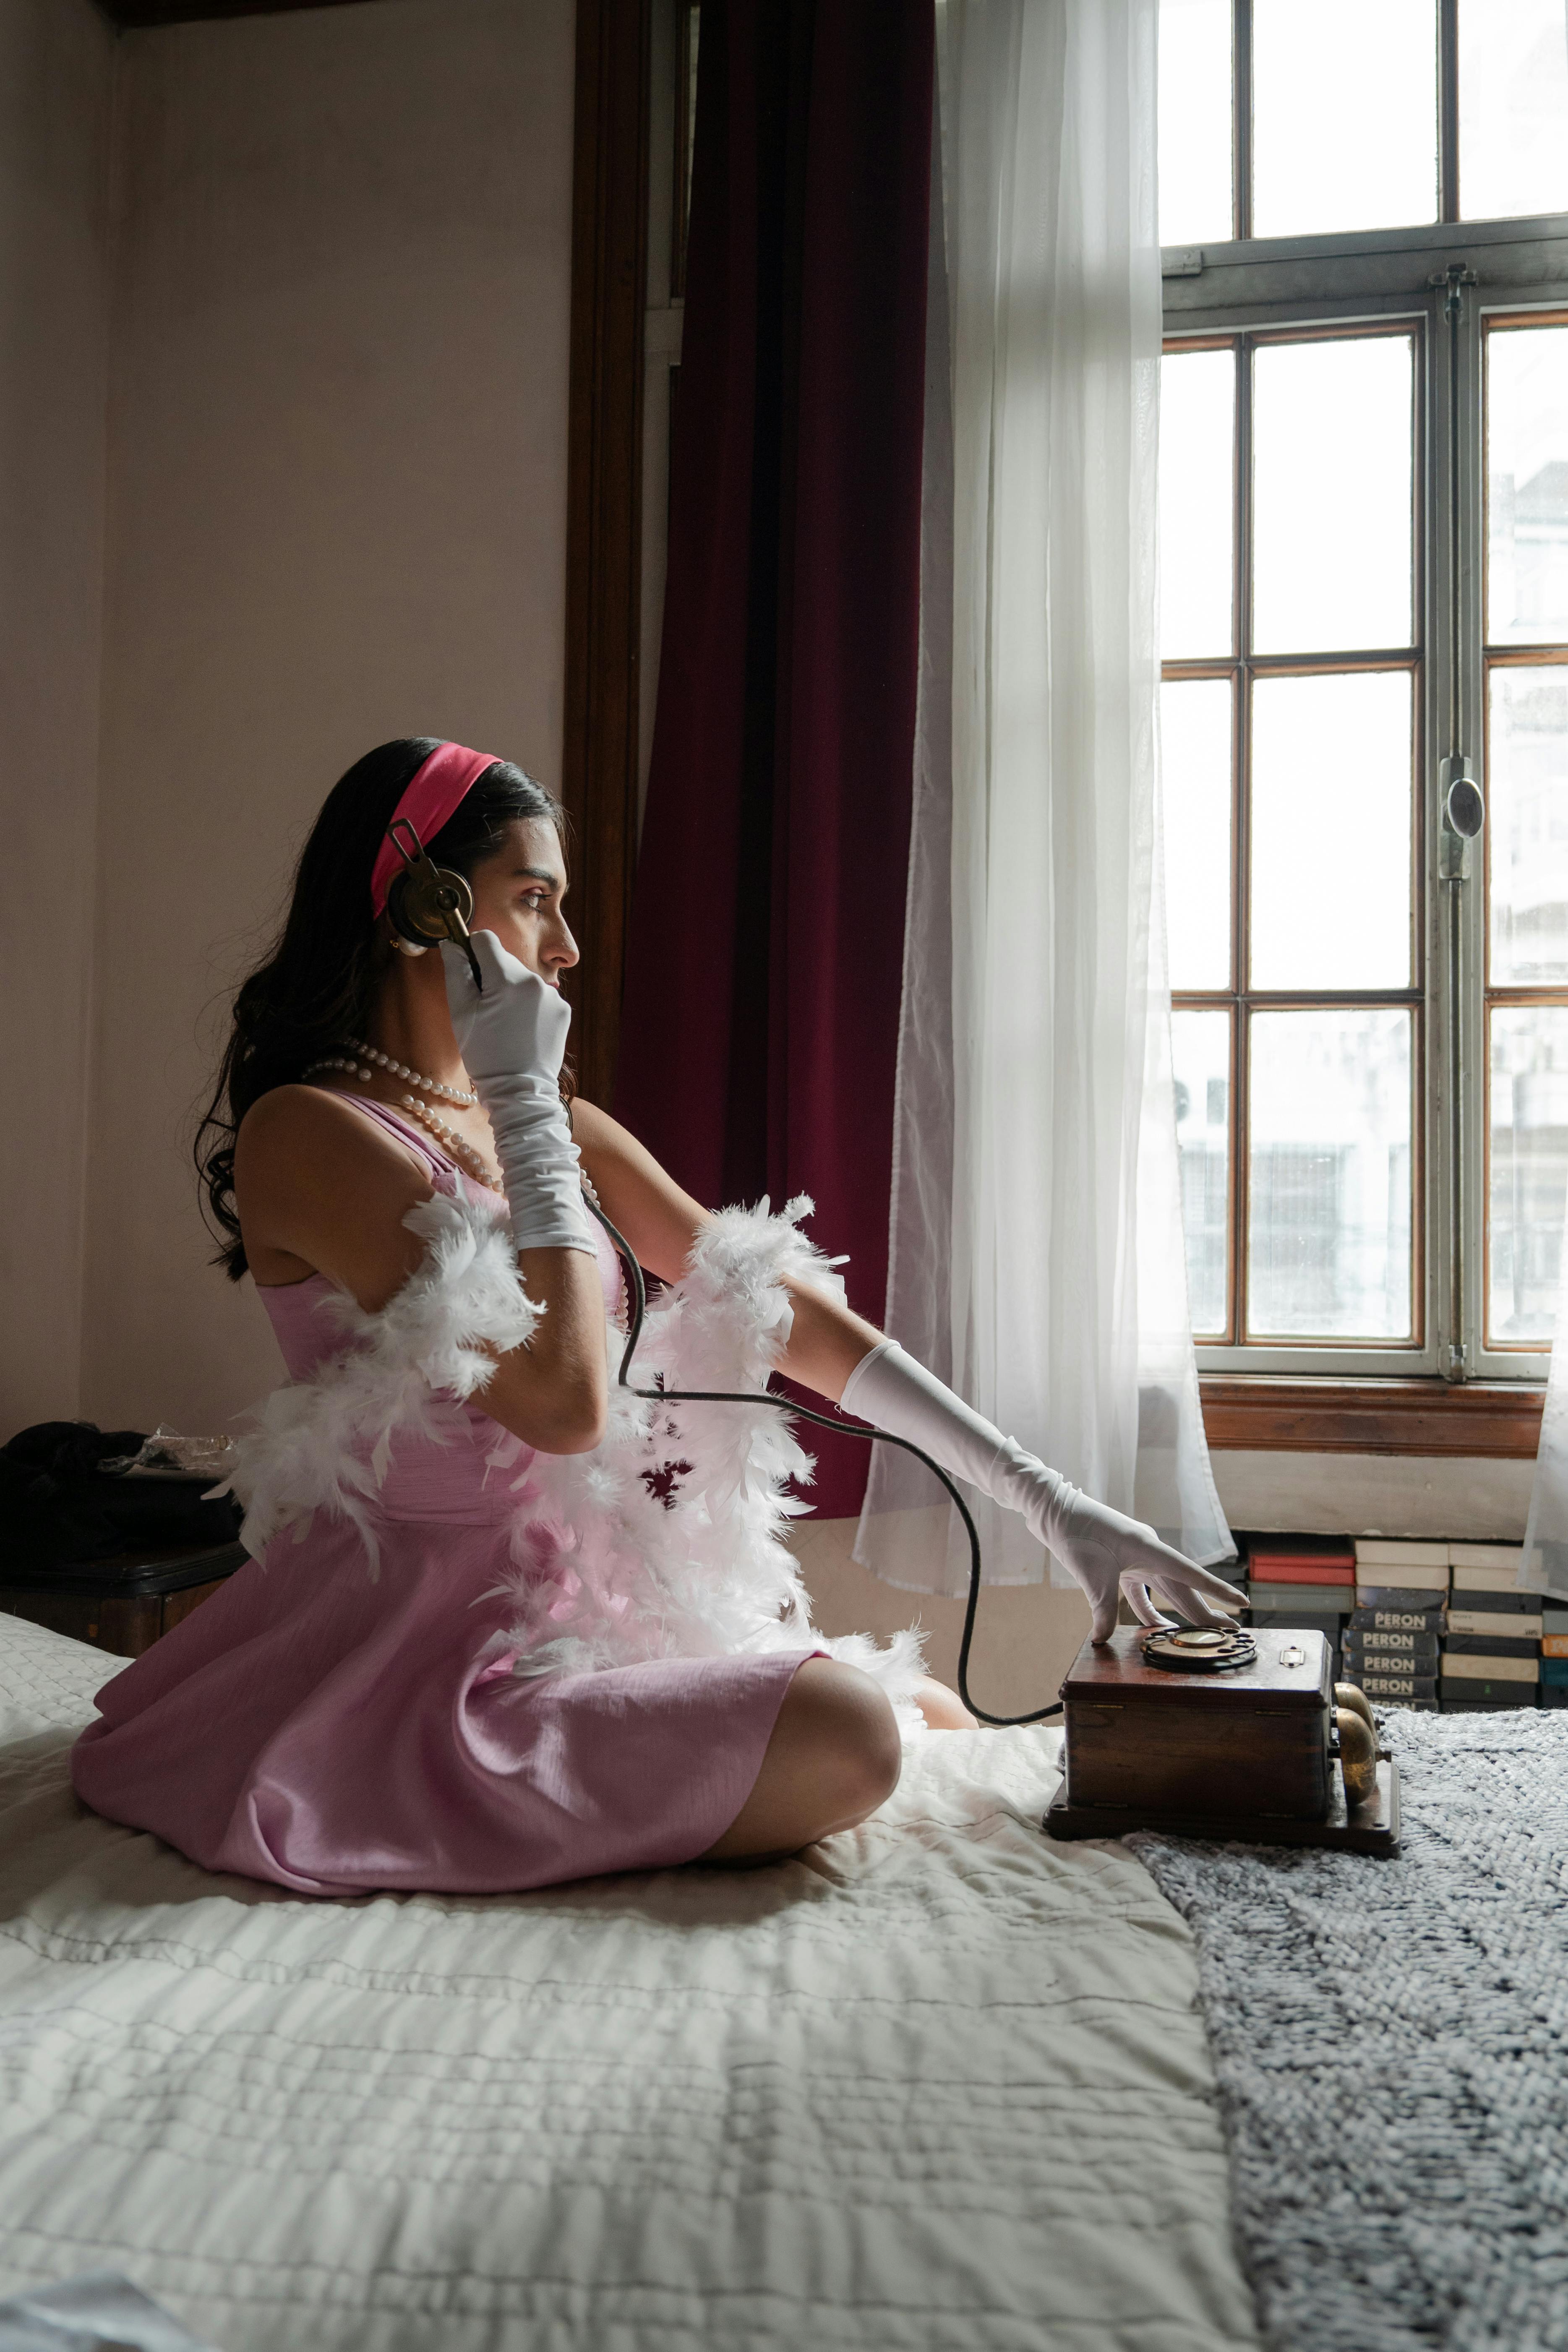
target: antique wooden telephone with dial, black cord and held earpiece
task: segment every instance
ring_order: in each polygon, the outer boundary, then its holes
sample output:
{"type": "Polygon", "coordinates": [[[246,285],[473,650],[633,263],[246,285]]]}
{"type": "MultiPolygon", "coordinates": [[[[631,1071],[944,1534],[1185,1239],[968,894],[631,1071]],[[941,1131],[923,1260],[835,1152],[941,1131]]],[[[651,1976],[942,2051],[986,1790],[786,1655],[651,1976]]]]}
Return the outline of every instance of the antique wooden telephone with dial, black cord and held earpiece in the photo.
{"type": "MultiPolygon", "coordinates": [[[[407,818],[397,818],[388,837],[404,863],[386,901],[397,946],[423,955],[442,938],[454,941],[468,955],[475,988],[484,990],[468,936],[473,889],[463,875],[430,863],[407,818]],[[400,828],[414,842],[411,851],[397,837],[400,828]]],[[[663,1404],[769,1404],[842,1437],[900,1446],[945,1489],[969,1538],[959,1698],[978,1722],[994,1726],[1065,1715],[1065,1776],[1044,1820],[1053,1837],[1121,1837],[1124,1830],[1166,1828],[1251,1844],[1399,1851],[1399,1766],[1380,1745],[1366,1696],[1354,1684],[1331,1682],[1321,1632],[1145,1632],[1124,1625],[1098,1649],[1084,1644],[1051,1705],[1030,1715],[990,1715],[969,1691],[980,1606],[980,1536],[954,1479],[912,1439],[842,1414],[818,1414],[795,1397],[766,1390],[635,1388],[632,1357],[646,1319],[642,1268],[590,1190],[583,1200],[625,1272],[630,1317],[621,1388],[663,1404]]]]}

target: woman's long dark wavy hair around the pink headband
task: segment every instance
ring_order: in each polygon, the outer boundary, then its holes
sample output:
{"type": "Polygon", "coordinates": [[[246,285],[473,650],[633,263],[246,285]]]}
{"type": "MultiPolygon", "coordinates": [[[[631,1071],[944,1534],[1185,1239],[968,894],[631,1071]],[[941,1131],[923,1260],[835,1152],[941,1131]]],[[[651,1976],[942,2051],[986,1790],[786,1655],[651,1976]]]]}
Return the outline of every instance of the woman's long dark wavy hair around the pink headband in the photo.
{"type": "MultiPolygon", "coordinates": [[[[282,934],[240,985],[235,1025],[223,1051],[207,1117],[195,1134],[195,1169],[207,1192],[216,1261],[230,1282],[247,1270],[235,1214],[235,1136],[240,1120],[273,1087],[287,1087],[331,1054],[343,1037],[364,1037],[386,946],[376,936],[369,877],[388,823],[414,771],[437,748],[435,736],[378,743],[339,776],[310,828],[294,873],[282,934]]],[[[510,760],[473,781],[433,842],[437,866],[473,877],[520,818],[552,823],[562,840],[562,804],[510,760]]]]}

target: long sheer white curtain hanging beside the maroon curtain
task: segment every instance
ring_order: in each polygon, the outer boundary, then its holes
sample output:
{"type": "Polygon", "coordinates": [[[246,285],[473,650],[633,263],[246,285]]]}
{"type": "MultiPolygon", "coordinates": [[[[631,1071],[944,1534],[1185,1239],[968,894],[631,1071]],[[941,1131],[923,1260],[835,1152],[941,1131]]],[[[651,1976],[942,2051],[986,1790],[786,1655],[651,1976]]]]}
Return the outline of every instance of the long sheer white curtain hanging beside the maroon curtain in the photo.
{"type": "MultiPolygon", "coordinates": [[[[1157,0],[945,0],[889,1331],[1201,1562],[1157,807],[1157,0]]],[[[976,1498],[987,1576],[1046,1555],[976,1498]]],[[[959,1590],[877,1449],[858,1557],[959,1590]]]]}

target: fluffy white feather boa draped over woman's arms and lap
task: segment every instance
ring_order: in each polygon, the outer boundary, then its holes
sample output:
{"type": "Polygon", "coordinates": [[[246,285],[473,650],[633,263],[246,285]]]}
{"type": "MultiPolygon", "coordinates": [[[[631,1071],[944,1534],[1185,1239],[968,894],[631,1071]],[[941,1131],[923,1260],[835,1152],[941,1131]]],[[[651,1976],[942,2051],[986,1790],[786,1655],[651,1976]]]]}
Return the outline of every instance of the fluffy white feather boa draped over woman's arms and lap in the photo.
{"type": "MultiPolygon", "coordinates": [[[[686,1272],[649,1305],[632,1364],[639,1388],[759,1390],[790,1336],[783,1277],[844,1294],[830,1261],[799,1232],[802,1195],[783,1216],[724,1209],[686,1272]]],[[[484,1200],[435,1195],[407,1225],[425,1261],[367,1315],[334,1312],[350,1345],[308,1381],[280,1388],[235,1442],[233,1486],[259,1552],[310,1515],[353,1519],[376,1573],[376,1496],[400,1432],[442,1439],[494,1369],[536,1324],[517,1282],[505,1216],[484,1200]]],[[[658,1404],[614,1378],[623,1334],[607,1319],[609,1425],[592,1454],[534,1454],[496,1428],[491,1477],[512,1477],[496,1595],[510,1602],[517,1675],[630,1665],[644,1658],[745,1656],[820,1644],[875,1675],[917,1729],[912,1689],[922,1637],[823,1639],[785,1524],[806,1505],[790,1477],[811,1475],[788,1418],[766,1404],[658,1404]]]]}

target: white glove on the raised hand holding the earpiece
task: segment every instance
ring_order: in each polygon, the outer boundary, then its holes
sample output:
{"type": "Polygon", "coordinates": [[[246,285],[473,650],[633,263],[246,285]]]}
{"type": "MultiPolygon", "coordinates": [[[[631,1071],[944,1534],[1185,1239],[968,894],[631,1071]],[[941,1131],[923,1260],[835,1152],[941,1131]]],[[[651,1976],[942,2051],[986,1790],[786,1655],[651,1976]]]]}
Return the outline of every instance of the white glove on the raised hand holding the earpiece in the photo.
{"type": "Polygon", "coordinates": [[[463,950],[442,943],[447,1009],[496,1138],[512,1244],[595,1256],[578,1148],[559,1094],[571,1007],[559,988],[508,955],[494,931],[475,931],[473,950],[482,993],[463,950]]]}

